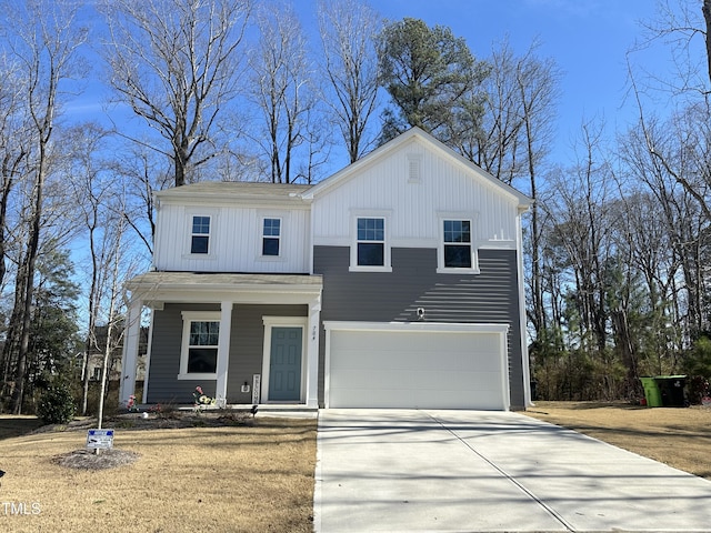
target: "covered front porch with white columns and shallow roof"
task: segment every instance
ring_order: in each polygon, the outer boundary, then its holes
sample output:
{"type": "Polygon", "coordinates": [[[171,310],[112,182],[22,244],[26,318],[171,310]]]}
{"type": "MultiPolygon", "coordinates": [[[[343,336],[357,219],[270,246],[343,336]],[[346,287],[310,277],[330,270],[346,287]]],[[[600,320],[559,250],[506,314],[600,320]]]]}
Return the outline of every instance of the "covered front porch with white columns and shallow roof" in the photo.
{"type": "Polygon", "coordinates": [[[322,280],[308,274],[148,272],[132,279],[120,401],[136,391],[141,316],[151,310],[142,404],[318,408],[322,280]]]}

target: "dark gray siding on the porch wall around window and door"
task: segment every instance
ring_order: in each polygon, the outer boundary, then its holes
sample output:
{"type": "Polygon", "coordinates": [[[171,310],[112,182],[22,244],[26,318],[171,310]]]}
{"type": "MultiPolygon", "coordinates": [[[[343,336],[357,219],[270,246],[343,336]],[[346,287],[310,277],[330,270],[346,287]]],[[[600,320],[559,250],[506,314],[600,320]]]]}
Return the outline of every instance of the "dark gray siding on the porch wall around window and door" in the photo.
{"type": "MultiPolygon", "coordinates": [[[[200,385],[214,396],[216,380],[178,380],[182,343],[183,311],[219,311],[214,304],[167,303],[153,313],[153,336],[148,371],[149,403],[192,403],[192,392],[200,385]]],[[[230,362],[228,368],[229,403],[250,403],[252,395],[241,385],[252,385],[252,375],[262,373],[264,325],[262,316],[306,316],[306,305],[240,305],[232,309],[230,362]]]]}

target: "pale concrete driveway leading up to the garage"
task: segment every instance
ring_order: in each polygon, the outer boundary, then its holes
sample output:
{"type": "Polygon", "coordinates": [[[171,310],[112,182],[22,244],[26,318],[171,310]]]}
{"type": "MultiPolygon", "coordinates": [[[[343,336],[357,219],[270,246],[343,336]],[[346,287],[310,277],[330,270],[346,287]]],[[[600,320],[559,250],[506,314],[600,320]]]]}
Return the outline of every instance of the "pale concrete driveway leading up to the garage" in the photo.
{"type": "Polygon", "coordinates": [[[518,413],[322,410],[316,477],[317,532],[711,531],[711,482],[518,413]]]}

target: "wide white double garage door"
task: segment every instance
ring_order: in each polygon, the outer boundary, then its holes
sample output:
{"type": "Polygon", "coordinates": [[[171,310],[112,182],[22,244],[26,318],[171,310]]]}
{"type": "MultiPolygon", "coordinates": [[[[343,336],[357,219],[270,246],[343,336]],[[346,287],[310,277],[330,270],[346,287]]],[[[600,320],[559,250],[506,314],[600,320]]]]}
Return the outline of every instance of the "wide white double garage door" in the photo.
{"type": "Polygon", "coordinates": [[[507,325],[324,325],[329,408],[509,409],[507,325]]]}

